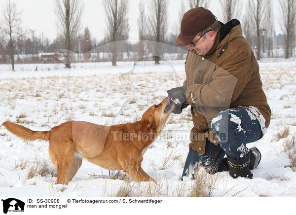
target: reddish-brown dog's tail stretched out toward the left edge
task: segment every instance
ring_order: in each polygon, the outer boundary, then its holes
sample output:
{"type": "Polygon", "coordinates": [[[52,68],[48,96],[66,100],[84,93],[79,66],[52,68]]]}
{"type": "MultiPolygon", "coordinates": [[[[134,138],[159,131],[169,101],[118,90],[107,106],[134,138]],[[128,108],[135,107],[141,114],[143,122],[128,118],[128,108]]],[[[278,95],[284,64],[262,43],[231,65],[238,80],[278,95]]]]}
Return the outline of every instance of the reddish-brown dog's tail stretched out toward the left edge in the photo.
{"type": "Polygon", "coordinates": [[[2,124],[8,131],[24,141],[36,141],[37,139],[48,141],[50,131],[32,131],[24,126],[12,123],[3,122],[2,124]]]}

